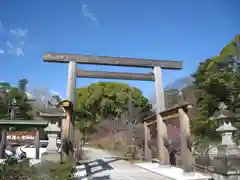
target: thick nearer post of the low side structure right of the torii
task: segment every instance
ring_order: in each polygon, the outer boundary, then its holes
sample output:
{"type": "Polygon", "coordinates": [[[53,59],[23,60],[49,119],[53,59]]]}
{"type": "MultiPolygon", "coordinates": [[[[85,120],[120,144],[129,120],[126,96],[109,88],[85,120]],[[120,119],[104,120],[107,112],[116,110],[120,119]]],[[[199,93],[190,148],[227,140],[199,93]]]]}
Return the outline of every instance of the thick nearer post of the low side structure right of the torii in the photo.
{"type": "Polygon", "coordinates": [[[185,172],[193,171],[193,154],[192,149],[188,145],[190,134],[190,122],[188,115],[183,109],[178,110],[180,121],[180,153],[181,164],[185,172]]]}

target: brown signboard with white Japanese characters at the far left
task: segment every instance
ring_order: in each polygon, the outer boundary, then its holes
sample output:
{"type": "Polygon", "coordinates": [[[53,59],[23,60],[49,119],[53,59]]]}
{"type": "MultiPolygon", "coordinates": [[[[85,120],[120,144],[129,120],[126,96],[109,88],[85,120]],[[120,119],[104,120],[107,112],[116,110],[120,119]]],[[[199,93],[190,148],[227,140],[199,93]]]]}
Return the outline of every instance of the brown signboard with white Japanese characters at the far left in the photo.
{"type": "Polygon", "coordinates": [[[35,131],[9,131],[7,132],[7,141],[34,141],[35,131]]]}

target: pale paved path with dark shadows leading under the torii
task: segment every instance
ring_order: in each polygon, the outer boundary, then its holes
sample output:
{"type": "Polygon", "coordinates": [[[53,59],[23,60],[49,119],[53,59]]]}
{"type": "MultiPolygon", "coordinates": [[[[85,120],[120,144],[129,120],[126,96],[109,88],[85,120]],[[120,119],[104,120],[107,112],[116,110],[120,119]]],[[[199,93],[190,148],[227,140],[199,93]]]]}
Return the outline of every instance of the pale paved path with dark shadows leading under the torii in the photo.
{"type": "Polygon", "coordinates": [[[84,151],[88,161],[77,166],[75,176],[78,180],[164,180],[103,150],[84,148],[84,151]]]}

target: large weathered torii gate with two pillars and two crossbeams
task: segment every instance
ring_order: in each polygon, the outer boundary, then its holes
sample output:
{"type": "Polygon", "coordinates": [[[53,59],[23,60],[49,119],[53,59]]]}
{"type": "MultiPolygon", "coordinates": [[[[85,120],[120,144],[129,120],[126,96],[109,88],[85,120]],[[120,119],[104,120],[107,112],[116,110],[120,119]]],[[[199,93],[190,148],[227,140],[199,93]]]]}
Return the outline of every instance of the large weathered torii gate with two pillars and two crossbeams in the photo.
{"type": "MultiPolygon", "coordinates": [[[[76,99],[76,78],[105,78],[105,79],[123,79],[123,80],[144,80],[155,82],[156,92],[156,115],[158,128],[158,152],[160,162],[166,162],[168,157],[163,153],[165,150],[163,139],[166,137],[165,124],[159,113],[165,109],[164,90],[162,85],[162,69],[180,70],[182,69],[181,61],[169,60],[151,60],[151,59],[136,59],[123,57],[109,57],[109,56],[90,56],[90,55],[76,55],[65,53],[44,53],[43,61],[52,63],[68,63],[68,85],[67,85],[67,99],[75,106],[76,99]],[[120,72],[102,72],[102,71],[82,71],[77,69],[76,64],[89,65],[107,65],[107,66],[127,66],[138,68],[152,68],[153,73],[120,73],[120,72]]],[[[63,127],[64,129],[71,128],[63,127]]],[[[71,130],[70,130],[71,131],[71,130]]],[[[68,137],[66,137],[68,138],[68,137]]],[[[73,140],[72,140],[73,141],[73,140]]]]}

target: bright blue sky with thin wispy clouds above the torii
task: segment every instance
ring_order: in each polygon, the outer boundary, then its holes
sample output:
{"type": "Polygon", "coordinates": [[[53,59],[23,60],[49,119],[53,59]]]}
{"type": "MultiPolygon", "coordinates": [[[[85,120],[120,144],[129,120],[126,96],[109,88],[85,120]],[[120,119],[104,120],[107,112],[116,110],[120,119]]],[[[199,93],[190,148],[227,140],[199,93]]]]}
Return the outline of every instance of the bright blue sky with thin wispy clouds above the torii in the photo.
{"type": "MultiPolygon", "coordinates": [[[[46,51],[182,60],[164,85],[193,73],[240,32],[239,0],[0,0],[0,81],[47,87],[66,95],[67,64],[42,61],[46,51]]],[[[149,72],[86,66],[81,69],[149,72]]],[[[99,79],[78,79],[86,86],[99,79]]],[[[152,82],[126,81],[151,97],[152,82]]]]}

